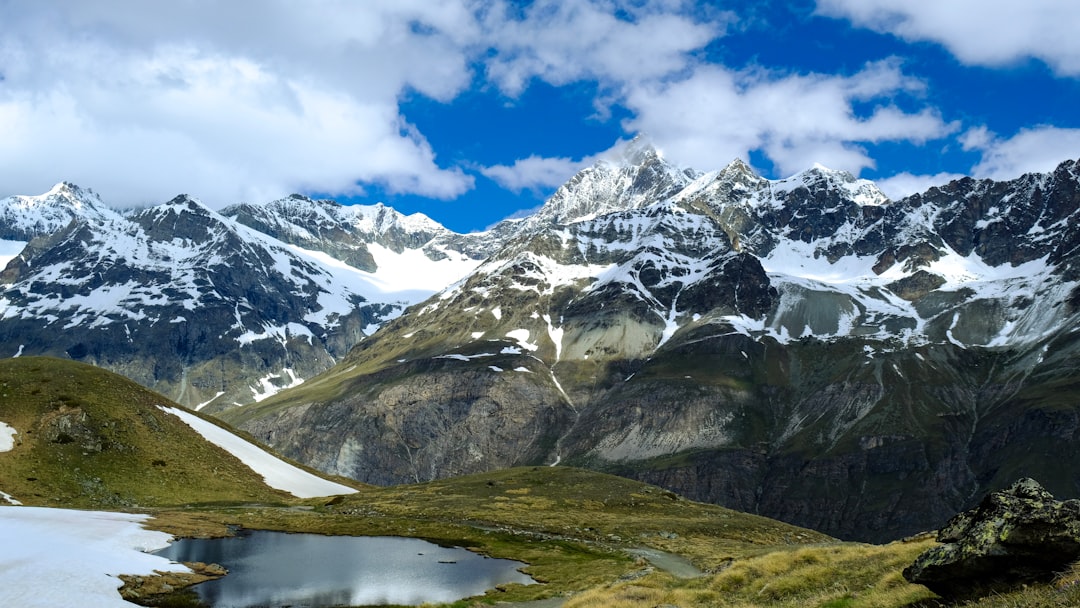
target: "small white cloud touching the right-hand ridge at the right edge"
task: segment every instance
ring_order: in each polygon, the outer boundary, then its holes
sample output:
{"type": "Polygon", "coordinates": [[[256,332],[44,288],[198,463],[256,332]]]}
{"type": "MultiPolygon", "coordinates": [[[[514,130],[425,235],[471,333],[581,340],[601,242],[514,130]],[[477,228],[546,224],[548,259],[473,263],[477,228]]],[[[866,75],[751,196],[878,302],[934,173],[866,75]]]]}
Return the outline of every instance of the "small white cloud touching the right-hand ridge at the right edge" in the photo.
{"type": "Polygon", "coordinates": [[[983,154],[972,170],[975,177],[1013,179],[1025,173],[1050,172],[1064,160],[1080,158],[1080,129],[1022,129],[1002,139],[976,127],[964,133],[961,141],[966,149],[983,154]]]}

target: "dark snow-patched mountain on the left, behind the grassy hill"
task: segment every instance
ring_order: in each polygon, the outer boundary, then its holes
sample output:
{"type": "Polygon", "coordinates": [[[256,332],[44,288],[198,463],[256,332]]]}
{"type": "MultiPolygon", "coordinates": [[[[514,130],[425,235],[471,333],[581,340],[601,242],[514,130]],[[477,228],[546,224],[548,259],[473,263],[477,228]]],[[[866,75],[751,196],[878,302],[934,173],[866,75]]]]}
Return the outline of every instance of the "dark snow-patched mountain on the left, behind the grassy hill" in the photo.
{"type": "Polygon", "coordinates": [[[19,253],[0,276],[8,356],[94,363],[211,410],[259,401],[328,368],[387,319],[478,264],[454,252],[431,259],[374,244],[383,272],[367,272],[184,195],[124,215],[69,184],[4,199],[0,218],[6,234],[29,240],[12,242],[19,253]]]}

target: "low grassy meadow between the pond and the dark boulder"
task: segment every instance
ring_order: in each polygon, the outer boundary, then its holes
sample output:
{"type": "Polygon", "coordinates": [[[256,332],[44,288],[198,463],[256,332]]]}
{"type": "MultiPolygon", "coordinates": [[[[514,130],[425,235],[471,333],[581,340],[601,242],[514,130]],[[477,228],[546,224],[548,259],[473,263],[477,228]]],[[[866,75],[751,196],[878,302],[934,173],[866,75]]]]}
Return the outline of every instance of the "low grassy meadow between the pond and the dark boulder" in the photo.
{"type": "MultiPolygon", "coordinates": [[[[569,468],[519,468],[438,482],[366,488],[313,511],[215,509],[159,513],[175,533],[251,528],[393,535],[521,559],[542,585],[505,585],[455,607],[567,597],[566,608],[937,608],[901,571],[933,545],[888,545],[823,535],[663,489],[569,468]],[[652,548],[689,557],[706,573],[675,578],[626,553],[652,548]]],[[[1080,569],[1050,585],[962,604],[970,608],[1080,606],[1080,569]]]]}

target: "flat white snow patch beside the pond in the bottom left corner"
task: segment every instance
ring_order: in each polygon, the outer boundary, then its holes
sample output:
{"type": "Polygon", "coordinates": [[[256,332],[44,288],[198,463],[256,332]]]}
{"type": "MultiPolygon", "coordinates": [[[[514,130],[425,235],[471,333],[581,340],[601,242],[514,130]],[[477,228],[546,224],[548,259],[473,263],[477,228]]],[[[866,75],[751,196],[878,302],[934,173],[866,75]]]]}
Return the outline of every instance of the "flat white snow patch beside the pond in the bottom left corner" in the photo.
{"type": "Polygon", "coordinates": [[[145,553],[163,549],[165,532],[139,525],[148,515],[38,506],[0,508],[0,605],[21,608],[131,608],[117,575],[186,572],[145,553]]]}

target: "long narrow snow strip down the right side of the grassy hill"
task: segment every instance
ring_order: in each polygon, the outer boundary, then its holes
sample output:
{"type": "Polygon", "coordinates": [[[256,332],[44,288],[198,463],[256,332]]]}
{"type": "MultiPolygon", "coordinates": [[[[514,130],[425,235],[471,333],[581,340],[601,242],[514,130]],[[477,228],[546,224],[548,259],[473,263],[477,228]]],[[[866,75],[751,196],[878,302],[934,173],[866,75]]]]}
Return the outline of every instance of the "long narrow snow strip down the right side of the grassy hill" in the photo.
{"type": "Polygon", "coordinates": [[[349,486],[336,484],[318,475],[294,467],[271,455],[259,446],[233,435],[229,431],[207,422],[198,416],[175,407],[158,406],[191,427],[210,443],[235,456],[241,462],[251,467],[266,481],[267,485],[287,491],[297,498],[313,498],[316,496],[334,496],[353,494],[356,490],[349,486]]]}

